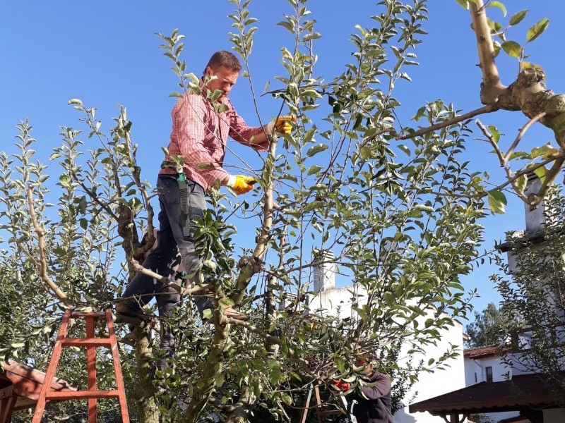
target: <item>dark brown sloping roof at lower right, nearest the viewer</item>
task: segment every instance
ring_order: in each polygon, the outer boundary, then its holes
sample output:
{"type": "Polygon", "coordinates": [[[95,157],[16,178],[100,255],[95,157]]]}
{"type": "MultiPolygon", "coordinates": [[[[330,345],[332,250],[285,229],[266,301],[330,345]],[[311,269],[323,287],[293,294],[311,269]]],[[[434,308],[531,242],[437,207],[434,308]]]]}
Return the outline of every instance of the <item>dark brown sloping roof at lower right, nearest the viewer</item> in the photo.
{"type": "Polygon", "coordinates": [[[481,382],[410,404],[410,412],[432,415],[513,411],[520,407],[555,407],[551,388],[540,374],[519,374],[509,381],[481,382]]]}

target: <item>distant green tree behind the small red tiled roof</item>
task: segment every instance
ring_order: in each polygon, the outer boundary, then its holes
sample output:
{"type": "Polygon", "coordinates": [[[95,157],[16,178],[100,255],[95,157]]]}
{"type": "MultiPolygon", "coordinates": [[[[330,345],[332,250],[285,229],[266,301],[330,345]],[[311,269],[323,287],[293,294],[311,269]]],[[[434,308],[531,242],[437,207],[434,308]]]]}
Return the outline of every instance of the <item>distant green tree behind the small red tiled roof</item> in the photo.
{"type": "Polygon", "coordinates": [[[504,315],[496,308],[494,302],[489,302],[482,312],[475,312],[475,321],[465,329],[469,336],[467,348],[499,345],[504,331],[504,315]]]}

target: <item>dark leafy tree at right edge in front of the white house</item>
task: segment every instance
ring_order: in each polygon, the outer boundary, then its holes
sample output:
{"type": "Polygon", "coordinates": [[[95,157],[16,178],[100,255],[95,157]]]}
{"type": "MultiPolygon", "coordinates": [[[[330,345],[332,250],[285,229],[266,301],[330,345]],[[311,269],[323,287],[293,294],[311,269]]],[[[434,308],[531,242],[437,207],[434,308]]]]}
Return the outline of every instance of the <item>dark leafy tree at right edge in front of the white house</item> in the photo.
{"type": "Polygon", "coordinates": [[[560,373],[565,369],[564,206],[565,197],[554,188],[545,200],[542,232],[511,234],[512,264],[500,259],[504,276],[492,277],[502,296],[504,338],[513,347],[506,361],[516,369],[550,375],[560,404],[565,403],[560,373]]]}

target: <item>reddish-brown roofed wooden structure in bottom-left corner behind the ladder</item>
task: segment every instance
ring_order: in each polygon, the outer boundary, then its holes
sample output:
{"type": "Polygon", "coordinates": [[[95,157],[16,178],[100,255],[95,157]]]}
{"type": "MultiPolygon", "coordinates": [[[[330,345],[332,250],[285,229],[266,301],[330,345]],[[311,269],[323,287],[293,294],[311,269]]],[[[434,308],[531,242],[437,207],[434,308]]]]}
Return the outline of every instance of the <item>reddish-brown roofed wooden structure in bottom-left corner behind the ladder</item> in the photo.
{"type": "MultiPolygon", "coordinates": [[[[45,381],[44,372],[13,360],[2,365],[0,372],[0,423],[10,423],[14,411],[35,407],[45,381]]],[[[77,391],[63,379],[51,381],[53,391],[77,391]]]]}

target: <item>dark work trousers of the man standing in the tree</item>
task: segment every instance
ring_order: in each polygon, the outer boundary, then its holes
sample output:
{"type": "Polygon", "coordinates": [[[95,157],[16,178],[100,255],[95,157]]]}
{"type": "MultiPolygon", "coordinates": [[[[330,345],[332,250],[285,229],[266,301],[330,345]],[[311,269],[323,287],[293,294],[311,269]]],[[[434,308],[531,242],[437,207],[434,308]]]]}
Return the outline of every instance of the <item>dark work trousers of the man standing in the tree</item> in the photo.
{"type": "MultiPolygon", "coordinates": [[[[192,180],[186,181],[188,195],[181,198],[179,183],[176,176],[162,176],[157,178],[157,193],[159,195],[159,232],[157,233],[157,247],[150,252],[143,262],[145,269],[151,269],[161,276],[174,276],[181,262],[189,280],[194,281],[199,257],[194,246],[194,226],[191,221],[202,218],[206,210],[204,190],[192,180]],[[184,201],[186,205],[182,206],[184,201]],[[179,255],[180,252],[180,255],[179,255]]],[[[165,369],[165,361],[174,355],[175,341],[166,318],[172,309],[179,304],[180,295],[174,288],[163,285],[150,276],[137,274],[129,283],[122,298],[127,304],[136,309],[143,307],[154,297],[157,300],[159,316],[162,321],[160,347],[165,350],[165,357],[157,366],[165,369]]],[[[194,296],[199,312],[213,306],[213,302],[205,296],[194,296]]]]}

